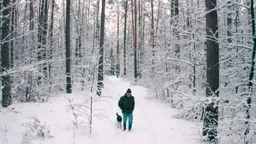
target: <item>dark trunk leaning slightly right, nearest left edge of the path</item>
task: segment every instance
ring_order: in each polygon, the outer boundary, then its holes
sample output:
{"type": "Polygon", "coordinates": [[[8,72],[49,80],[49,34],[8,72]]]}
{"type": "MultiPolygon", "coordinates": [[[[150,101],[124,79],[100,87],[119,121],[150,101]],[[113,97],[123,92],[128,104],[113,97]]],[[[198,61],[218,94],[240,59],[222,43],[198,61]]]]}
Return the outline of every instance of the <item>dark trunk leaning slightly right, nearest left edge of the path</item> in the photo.
{"type": "Polygon", "coordinates": [[[98,61],[98,82],[97,82],[97,95],[101,95],[103,87],[103,55],[104,55],[104,30],[105,30],[105,5],[106,0],[102,0],[101,7],[101,35],[100,35],[100,59],[98,61]]]}

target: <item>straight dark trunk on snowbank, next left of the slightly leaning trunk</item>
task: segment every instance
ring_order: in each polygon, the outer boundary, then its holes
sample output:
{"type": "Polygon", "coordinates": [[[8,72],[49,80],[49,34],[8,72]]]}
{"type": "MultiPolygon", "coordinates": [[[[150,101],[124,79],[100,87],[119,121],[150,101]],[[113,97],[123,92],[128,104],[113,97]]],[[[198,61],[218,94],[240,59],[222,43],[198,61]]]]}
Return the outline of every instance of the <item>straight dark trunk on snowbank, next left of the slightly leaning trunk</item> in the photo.
{"type": "Polygon", "coordinates": [[[66,81],[67,93],[72,93],[71,86],[71,50],[70,50],[70,0],[67,0],[66,8],[66,81]]]}

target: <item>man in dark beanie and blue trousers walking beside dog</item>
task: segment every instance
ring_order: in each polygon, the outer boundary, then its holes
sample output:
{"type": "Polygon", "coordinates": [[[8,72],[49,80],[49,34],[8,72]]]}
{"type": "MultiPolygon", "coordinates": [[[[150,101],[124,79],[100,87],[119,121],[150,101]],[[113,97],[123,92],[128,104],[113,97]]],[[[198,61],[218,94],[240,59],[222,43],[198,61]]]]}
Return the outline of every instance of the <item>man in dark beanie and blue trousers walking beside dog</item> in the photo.
{"type": "Polygon", "coordinates": [[[134,97],[131,95],[130,88],[128,88],[125,95],[119,99],[118,106],[120,107],[123,113],[124,131],[126,130],[127,118],[129,119],[128,130],[131,131],[132,119],[133,119],[132,112],[134,110],[135,101],[134,101],[134,97]]]}

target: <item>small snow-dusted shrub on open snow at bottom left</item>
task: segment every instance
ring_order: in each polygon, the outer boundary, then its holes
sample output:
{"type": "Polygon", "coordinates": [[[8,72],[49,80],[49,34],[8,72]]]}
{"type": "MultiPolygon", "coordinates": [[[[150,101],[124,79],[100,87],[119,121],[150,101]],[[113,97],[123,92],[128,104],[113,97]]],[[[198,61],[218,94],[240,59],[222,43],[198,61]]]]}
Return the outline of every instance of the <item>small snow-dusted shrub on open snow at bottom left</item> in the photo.
{"type": "Polygon", "coordinates": [[[30,143],[31,140],[40,140],[50,136],[50,129],[45,123],[33,117],[33,121],[25,123],[26,132],[23,135],[23,143],[30,143]]]}

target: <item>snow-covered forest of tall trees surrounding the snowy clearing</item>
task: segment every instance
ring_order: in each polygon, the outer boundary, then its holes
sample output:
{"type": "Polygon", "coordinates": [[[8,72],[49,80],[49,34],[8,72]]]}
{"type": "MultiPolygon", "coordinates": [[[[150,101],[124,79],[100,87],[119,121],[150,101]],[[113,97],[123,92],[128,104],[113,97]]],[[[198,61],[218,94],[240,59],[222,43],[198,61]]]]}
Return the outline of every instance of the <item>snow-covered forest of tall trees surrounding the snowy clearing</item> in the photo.
{"type": "Polygon", "coordinates": [[[202,142],[256,142],[254,0],[0,4],[1,109],[60,92],[92,103],[115,76],[200,123],[202,142]]]}

